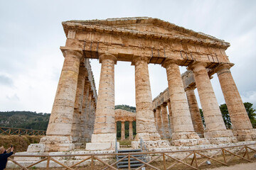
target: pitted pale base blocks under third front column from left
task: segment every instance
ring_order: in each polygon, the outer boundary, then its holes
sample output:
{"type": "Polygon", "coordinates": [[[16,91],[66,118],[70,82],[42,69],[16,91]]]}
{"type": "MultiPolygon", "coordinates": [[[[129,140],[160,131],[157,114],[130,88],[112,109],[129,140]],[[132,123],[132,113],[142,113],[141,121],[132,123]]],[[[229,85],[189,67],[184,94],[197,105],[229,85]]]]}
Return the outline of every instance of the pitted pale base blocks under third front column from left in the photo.
{"type": "MultiPolygon", "coordinates": [[[[170,142],[168,140],[148,140],[144,141],[144,144],[146,145],[146,149],[152,149],[152,148],[160,148],[160,147],[170,147],[170,142]]],[[[132,148],[139,149],[140,148],[140,142],[139,141],[132,141],[132,148]]]]}

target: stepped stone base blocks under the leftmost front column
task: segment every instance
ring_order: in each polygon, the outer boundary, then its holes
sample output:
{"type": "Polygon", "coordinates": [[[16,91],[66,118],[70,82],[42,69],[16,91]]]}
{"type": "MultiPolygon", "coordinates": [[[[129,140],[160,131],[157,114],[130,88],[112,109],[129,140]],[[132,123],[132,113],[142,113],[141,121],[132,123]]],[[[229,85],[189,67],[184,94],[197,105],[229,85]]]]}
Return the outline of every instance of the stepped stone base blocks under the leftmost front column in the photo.
{"type": "Polygon", "coordinates": [[[73,149],[75,145],[71,136],[46,136],[41,138],[39,144],[28,146],[28,152],[64,152],[73,149]]]}

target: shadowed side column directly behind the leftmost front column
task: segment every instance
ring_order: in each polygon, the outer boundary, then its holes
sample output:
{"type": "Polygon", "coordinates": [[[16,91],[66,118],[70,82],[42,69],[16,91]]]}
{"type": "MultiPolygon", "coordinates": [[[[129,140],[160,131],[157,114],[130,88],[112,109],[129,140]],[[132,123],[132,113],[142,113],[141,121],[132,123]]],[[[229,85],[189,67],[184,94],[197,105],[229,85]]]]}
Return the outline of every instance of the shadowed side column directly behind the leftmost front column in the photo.
{"type": "Polygon", "coordinates": [[[85,77],[87,76],[87,70],[80,65],[78,74],[78,86],[75,96],[75,109],[73,114],[73,125],[71,130],[71,135],[73,137],[73,142],[81,142],[82,130],[81,130],[81,120],[82,120],[82,101],[85,89],[85,77]]]}

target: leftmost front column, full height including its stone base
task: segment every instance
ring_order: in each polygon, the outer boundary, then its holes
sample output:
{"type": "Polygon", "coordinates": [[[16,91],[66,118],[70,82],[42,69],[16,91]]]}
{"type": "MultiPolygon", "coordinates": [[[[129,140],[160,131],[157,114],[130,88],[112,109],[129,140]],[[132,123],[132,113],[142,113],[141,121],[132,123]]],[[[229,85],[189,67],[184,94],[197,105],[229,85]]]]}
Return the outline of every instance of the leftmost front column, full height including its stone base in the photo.
{"type": "Polygon", "coordinates": [[[41,138],[41,143],[46,144],[46,152],[68,151],[74,148],[71,128],[82,55],[73,50],[65,50],[63,55],[65,60],[50,114],[47,136],[41,138]]]}

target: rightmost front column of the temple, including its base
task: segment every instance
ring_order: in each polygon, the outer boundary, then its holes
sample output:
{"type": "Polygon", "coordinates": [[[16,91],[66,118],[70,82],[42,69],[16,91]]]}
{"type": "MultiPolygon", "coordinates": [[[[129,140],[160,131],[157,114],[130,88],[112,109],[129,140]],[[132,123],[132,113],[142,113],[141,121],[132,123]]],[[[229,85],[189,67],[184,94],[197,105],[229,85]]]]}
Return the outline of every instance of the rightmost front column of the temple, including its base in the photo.
{"type": "Polygon", "coordinates": [[[220,64],[215,69],[215,72],[218,74],[235,135],[238,136],[238,140],[252,140],[256,137],[255,132],[252,132],[252,124],[242,103],[238,88],[235,85],[230,67],[229,64],[220,64]]]}

